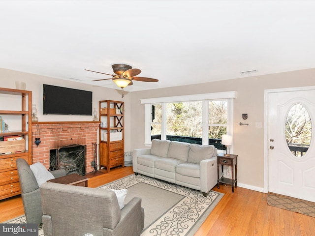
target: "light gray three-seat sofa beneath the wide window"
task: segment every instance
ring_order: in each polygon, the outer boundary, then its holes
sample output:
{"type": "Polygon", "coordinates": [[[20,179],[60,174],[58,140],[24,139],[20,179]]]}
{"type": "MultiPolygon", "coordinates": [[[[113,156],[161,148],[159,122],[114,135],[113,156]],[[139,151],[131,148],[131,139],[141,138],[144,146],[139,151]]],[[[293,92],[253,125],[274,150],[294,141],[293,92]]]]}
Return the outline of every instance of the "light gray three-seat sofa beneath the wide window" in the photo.
{"type": "Polygon", "coordinates": [[[132,167],[142,174],[200,190],[218,183],[217,148],[169,140],[152,140],[151,148],[134,149],[132,167]]]}

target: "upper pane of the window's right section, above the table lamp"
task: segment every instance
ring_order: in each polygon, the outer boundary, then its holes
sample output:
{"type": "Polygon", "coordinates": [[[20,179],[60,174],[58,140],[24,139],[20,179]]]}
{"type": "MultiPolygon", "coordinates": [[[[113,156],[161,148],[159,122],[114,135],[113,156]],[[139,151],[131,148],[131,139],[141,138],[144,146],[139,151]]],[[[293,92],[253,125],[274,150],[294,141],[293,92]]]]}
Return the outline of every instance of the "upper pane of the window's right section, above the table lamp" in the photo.
{"type": "Polygon", "coordinates": [[[209,124],[227,124],[227,100],[209,102],[209,124]]]}

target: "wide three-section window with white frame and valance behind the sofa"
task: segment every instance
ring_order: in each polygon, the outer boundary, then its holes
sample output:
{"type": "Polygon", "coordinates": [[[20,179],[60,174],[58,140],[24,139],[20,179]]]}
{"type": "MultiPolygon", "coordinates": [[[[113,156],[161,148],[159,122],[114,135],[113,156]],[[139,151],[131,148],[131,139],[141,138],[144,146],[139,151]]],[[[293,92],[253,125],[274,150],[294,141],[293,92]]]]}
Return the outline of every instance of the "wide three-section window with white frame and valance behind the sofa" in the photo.
{"type": "Polygon", "coordinates": [[[235,91],[142,99],[146,144],[158,138],[224,149],[221,136],[233,130],[233,98],[235,91]]]}

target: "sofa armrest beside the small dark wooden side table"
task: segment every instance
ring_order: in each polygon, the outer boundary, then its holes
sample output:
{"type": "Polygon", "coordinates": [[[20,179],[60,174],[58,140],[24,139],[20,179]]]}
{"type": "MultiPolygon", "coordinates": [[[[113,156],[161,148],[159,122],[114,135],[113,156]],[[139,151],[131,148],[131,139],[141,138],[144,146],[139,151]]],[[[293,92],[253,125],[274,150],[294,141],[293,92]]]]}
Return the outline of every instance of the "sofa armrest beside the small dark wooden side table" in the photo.
{"type": "Polygon", "coordinates": [[[218,183],[217,156],[200,162],[200,191],[208,193],[218,183]]]}

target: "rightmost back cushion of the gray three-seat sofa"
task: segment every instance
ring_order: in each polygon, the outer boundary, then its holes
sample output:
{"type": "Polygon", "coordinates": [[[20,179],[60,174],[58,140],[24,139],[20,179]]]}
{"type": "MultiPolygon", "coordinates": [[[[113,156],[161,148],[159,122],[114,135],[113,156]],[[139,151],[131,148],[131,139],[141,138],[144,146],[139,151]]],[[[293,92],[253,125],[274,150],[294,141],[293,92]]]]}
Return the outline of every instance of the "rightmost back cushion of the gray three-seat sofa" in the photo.
{"type": "Polygon", "coordinates": [[[188,153],[188,162],[200,164],[200,161],[213,157],[215,146],[213,145],[190,145],[188,153]]]}

